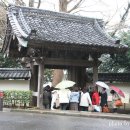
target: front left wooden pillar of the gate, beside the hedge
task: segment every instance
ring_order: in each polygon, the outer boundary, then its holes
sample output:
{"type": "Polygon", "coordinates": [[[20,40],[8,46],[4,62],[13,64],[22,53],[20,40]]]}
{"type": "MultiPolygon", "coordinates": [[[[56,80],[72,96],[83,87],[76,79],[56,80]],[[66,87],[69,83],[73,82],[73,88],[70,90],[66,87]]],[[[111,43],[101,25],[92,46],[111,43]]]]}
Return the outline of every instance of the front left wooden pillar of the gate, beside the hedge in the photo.
{"type": "Polygon", "coordinates": [[[44,73],[44,64],[43,62],[39,63],[38,67],[38,89],[37,89],[37,107],[43,108],[42,94],[43,94],[43,73],[44,73]]]}

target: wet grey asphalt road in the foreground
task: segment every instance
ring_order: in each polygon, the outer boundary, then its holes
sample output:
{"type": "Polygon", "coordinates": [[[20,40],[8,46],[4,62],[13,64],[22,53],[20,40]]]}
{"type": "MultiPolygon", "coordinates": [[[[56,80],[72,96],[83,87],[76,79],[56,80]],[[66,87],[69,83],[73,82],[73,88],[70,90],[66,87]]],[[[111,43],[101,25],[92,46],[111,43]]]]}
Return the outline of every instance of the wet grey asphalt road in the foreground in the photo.
{"type": "Polygon", "coordinates": [[[83,116],[0,112],[0,130],[129,130],[130,121],[83,116]]]}

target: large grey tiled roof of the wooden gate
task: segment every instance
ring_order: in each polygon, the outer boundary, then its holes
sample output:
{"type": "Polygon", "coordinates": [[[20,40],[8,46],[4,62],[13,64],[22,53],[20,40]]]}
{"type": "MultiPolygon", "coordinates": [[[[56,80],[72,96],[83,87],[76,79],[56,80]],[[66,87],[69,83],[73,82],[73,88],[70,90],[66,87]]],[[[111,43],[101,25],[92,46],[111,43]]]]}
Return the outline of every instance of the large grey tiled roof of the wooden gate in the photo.
{"type": "Polygon", "coordinates": [[[8,18],[13,33],[24,47],[31,44],[28,40],[35,40],[34,44],[42,46],[46,42],[47,46],[99,47],[99,51],[107,47],[108,52],[127,48],[105,32],[100,19],[14,5],[8,8],[8,18]]]}

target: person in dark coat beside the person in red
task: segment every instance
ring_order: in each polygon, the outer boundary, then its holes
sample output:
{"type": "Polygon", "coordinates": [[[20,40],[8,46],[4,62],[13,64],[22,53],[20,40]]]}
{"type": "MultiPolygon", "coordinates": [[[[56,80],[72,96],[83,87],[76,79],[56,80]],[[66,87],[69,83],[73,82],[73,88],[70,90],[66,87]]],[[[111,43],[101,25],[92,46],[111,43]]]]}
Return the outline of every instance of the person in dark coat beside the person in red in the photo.
{"type": "Polygon", "coordinates": [[[104,106],[108,106],[108,103],[107,103],[107,92],[106,92],[106,88],[102,88],[102,92],[99,93],[99,96],[101,96],[101,102],[100,102],[100,106],[103,110],[103,107],[104,106]]]}

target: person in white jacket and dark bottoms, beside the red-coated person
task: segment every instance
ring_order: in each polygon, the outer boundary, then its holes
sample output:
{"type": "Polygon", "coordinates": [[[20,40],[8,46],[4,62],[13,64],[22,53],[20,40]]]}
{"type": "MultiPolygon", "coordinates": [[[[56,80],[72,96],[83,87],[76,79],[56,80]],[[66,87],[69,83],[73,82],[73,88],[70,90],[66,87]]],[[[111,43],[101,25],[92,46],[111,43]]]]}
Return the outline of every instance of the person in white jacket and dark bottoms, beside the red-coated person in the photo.
{"type": "Polygon", "coordinates": [[[92,101],[89,93],[87,92],[87,88],[84,87],[83,90],[81,91],[81,96],[80,96],[80,104],[79,104],[80,110],[88,111],[89,105],[92,106],[92,101]]]}

